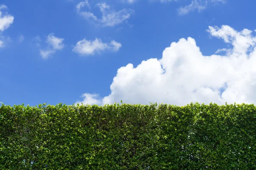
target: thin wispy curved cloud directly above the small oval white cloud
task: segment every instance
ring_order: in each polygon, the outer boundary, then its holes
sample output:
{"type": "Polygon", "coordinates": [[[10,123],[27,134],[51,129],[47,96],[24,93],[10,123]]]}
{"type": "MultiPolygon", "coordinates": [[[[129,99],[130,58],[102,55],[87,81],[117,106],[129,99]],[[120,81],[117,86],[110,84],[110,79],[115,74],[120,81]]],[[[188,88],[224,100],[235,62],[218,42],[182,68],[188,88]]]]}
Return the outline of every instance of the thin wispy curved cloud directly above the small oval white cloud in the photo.
{"type": "Polygon", "coordinates": [[[90,8],[90,4],[88,1],[84,1],[79,3],[76,8],[78,13],[84,17],[86,20],[92,20],[97,24],[101,24],[102,26],[115,26],[123,21],[127,20],[131,17],[131,14],[134,13],[134,10],[131,9],[122,9],[120,11],[114,11],[111,7],[106,3],[98,3],[96,7],[98,7],[102,13],[102,18],[99,19],[96,17],[93,12],[90,11],[81,11],[81,8],[87,6],[90,8]]]}

